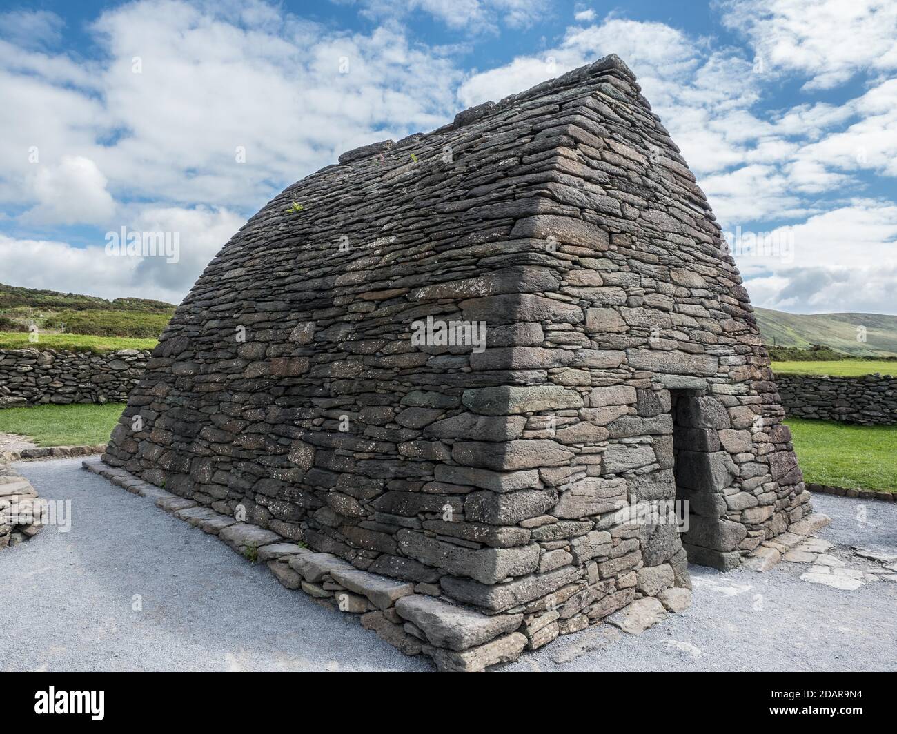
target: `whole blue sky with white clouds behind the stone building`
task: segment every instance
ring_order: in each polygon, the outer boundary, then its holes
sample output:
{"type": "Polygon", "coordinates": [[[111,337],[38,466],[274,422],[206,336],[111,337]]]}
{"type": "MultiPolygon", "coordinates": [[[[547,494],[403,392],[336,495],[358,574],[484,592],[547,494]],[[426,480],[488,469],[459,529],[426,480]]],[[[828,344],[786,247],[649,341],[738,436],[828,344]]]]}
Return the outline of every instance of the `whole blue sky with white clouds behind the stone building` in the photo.
{"type": "Polygon", "coordinates": [[[755,305],[897,313],[897,4],[875,0],[0,4],[0,282],[177,302],[340,152],[611,52],[723,229],[776,245],[736,243],[755,305]],[[123,226],[179,232],[179,262],[106,256],[123,226]]]}

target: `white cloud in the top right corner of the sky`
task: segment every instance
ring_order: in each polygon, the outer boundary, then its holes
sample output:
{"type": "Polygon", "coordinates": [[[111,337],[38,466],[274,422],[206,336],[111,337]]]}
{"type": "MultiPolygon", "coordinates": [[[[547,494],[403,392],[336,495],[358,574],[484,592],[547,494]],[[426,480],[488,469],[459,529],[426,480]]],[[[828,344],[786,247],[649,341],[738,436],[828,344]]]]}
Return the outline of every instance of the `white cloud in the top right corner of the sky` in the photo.
{"type": "Polygon", "coordinates": [[[810,77],[805,89],[832,89],[854,74],[897,70],[893,0],[726,0],[723,22],[750,40],[773,70],[810,77]]]}

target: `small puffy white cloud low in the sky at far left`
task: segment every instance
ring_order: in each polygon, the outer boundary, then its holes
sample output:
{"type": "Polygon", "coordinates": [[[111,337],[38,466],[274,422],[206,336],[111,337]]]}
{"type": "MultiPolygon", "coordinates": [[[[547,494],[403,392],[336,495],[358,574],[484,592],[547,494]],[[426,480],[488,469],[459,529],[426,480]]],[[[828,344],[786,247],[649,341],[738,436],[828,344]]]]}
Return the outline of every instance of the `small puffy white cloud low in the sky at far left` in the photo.
{"type": "Polygon", "coordinates": [[[97,164],[83,156],[64,155],[55,166],[39,166],[31,181],[37,204],[22,216],[38,224],[108,222],[115,203],[97,164]]]}

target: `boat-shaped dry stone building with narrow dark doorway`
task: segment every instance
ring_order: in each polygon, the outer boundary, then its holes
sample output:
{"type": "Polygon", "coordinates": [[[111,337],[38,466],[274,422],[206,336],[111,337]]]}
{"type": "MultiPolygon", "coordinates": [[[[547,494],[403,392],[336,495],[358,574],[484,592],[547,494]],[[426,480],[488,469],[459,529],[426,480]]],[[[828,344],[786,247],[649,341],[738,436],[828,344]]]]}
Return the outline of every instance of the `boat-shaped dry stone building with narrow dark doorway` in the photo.
{"type": "Polygon", "coordinates": [[[323,600],[351,569],[399,584],[379,634],[477,669],[684,609],[692,555],[735,566],[801,520],[782,415],[710,207],[608,56],[275,197],[103,461],[301,541],[279,577],[323,600]]]}

